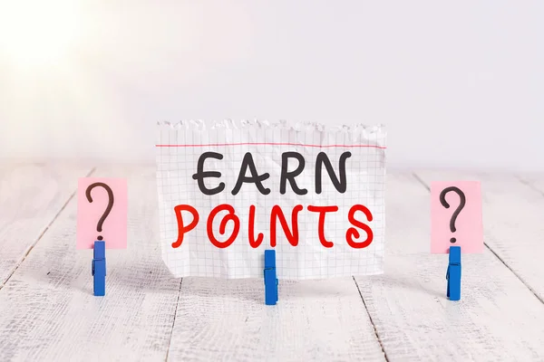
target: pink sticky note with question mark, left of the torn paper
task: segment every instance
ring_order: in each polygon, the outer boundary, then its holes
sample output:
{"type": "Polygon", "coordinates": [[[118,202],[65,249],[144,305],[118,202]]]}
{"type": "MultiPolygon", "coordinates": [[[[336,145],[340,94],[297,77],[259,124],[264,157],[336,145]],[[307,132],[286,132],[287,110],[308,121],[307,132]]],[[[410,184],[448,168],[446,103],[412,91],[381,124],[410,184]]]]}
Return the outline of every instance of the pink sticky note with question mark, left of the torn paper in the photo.
{"type": "Polygon", "coordinates": [[[77,190],[77,249],[92,249],[101,240],[107,249],[127,248],[128,186],[124,178],[80,178],[77,190]],[[93,186],[92,188],[90,186],[93,186]],[[90,190],[92,202],[87,197],[90,190]],[[111,190],[111,195],[109,195],[111,190]],[[102,231],[99,223],[103,219],[102,231]]]}

